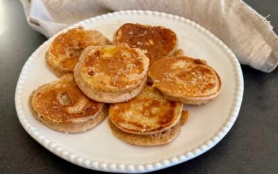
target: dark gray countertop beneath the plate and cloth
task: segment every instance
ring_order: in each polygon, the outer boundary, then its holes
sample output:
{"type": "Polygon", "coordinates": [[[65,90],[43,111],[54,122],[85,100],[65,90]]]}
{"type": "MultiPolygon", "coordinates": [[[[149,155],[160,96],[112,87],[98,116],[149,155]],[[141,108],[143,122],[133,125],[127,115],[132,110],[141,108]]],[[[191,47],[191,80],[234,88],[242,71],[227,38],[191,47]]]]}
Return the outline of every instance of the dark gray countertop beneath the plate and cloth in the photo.
{"type": "MultiPolygon", "coordinates": [[[[278,33],[278,1],[246,0],[270,15],[278,33]]],[[[17,119],[15,86],[27,58],[47,38],[28,26],[19,1],[0,1],[0,173],[92,173],[52,154],[17,119]]],[[[245,65],[238,120],[214,148],[155,173],[278,173],[278,70],[266,74],[245,65]]]]}

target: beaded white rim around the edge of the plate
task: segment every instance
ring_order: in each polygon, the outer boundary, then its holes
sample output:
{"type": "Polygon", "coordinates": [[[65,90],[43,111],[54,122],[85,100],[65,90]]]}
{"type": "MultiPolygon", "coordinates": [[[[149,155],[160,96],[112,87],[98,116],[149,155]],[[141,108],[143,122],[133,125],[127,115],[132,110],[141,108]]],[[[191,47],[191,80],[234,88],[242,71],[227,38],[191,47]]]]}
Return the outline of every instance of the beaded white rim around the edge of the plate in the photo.
{"type": "Polygon", "coordinates": [[[243,73],[240,68],[238,59],[236,58],[234,53],[231,52],[231,50],[226,45],[224,45],[224,43],[220,39],[218,39],[215,35],[213,35],[210,31],[207,31],[202,26],[196,24],[193,21],[190,21],[189,19],[186,19],[184,17],[179,17],[177,15],[171,15],[167,13],[161,13],[161,12],[149,11],[149,10],[121,10],[114,13],[107,13],[104,15],[91,17],[89,19],[84,19],[81,22],[77,22],[76,24],[73,24],[72,26],[69,26],[66,29],[63,29],[62,31],[58,32],[56,35],[52,36],[51,38],[49,38],[49,40],[45,41],[42,45],[40,45],[40,47],[38,47],[38,49],[36,49],[35,52],[33,52],[33,54],[28,58],[26,63],[24,63],[22,71],[20,72],[19,79],[17,81],[17,87],[15,90],[15,107],[17,111],[17,116],[19,118],[19,122],[21,123],[22,127],[24,127],[26,132],[33,139],[35,139],[35,141],[40,143],[44,148],[47,148],[47,150],[54,153],[58,157],[70,161],[72,164],[76,164],[78,166],[89,168],[92,170],[97,170],[97,171],[105,171],[105,172],[113,172],[113,173],[145,173],[145,172],[157,171],[163,168],[181,164],[182,162],[198,157],[199,155],[202,155],[204,152],[213,148],[219,141],[221,141],[224,138],[224,136],[229,132],[231,127],[234,125],[234,122],[236,121],[236,118],[240,110],[241,102],[243,100],[243,88],[244,88],[243,73]],[[40,134],[40,132],[36,130],[35,127],[33,127],[28,122],[28,118],[24,116],[24,111],[22,111],[22,106],[21,106],[22,101],[20,97],[22,93],[24,93],[22,90],[22,84],[24,84],[24,79],[26,79],[26,74],[28,74],[25,73],[25,69],[28,69],[28,65],[30,65],[32,61],[34,61],[35,54],[37,52],[41,52],[44,45],[47,45],[49,42],[54,40],[54,38],[60,33],[64,33],[65,31],[72,29],[78,25],[82,25],[90,22],[97,22],[97,20],[106,19],[108,17],[113,17],[117,15],[156,15],[156,16],[159,15],[161,17],[167,17],[167,19],[174,19],[174,20],[179,20],[180,22],[185,22],[193,26],[195,29],[199,30],[199,32],[208,36],[211,40],[213,40],[213,42],[215,42],[215,44],[218,45],[218,47],[224,49],[224,52],[227,54],[227,56],[229,56],[232,63],[234,63],[234,73],[236,76],[237,92],[236,92],[236,96],[234,96],[232,111],[229,113],[230,116],[224,122],[223,127],[221,127],[221,129],[215,133],[215,136],[211,137],[211,139],[206,141],[206,143],[199,145],[197,148],[191,150],[190,152],[183,152],[181,155],[178,155],[176,157],[161,159],[161,161],[154,161],[148,164],[114,164],[114,163],[111,164],[103,161],[92,161],[89,159],[83,159],[82,157],[79,157],[74,153],[65,150],[63,147],[58,146],[54,141],[50,141],[49,139],[47,139],[47,137],[44,137],[43,134],[40,134]],[[199,147],[203,147],[203,148],[201,149],[199,147]]]}

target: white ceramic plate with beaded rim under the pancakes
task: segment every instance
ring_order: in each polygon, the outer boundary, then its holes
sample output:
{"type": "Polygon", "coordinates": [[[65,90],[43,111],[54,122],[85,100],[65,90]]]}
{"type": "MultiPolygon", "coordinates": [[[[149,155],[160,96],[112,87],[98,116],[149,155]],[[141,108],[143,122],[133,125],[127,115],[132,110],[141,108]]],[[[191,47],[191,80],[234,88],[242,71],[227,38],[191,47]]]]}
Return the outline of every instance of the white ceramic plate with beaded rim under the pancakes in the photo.
{"type": "MultiPolygon", "coordinates": [[[[187,56],[203,58],[222,79],[222,93],[204,106],[185,106],[190,118],[171,143],[153,147],[129,145],[113,136],[107,119],[81,134],[63,134],[42,125],[28,108],[28,97],[42,84],[57,79],[47,68],[44,54],[56,35],[44,42],[26,61],[15,93],[17,115],[33,139],[59,157],[98,171],[142,173],[193,159],[218,143],[234,124],[243,98],[243,75],[236,56],[218,38],[195,22],[165,13],[126,10],[85,19],[77,25],[97,29],[112,40],[126,22],[172,29],[187,56]]],[[[62,32],[65,32],[65,29],[62,32]]]]}

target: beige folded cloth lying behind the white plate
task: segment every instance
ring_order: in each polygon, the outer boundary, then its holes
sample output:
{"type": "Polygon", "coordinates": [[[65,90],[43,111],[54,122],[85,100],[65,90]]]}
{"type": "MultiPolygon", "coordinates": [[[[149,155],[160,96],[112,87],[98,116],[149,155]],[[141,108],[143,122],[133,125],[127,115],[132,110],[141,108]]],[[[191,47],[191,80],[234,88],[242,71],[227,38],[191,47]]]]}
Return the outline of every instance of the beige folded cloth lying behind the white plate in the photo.
{"type": "Polygon", "coordinates": [[[51,37],[83,19],[116,10],[154,10],[186,17],[220,38],[240,63],[271,72],[278,37],[270,23],[241,0],[21,0],[28,23],[51,37]]]}

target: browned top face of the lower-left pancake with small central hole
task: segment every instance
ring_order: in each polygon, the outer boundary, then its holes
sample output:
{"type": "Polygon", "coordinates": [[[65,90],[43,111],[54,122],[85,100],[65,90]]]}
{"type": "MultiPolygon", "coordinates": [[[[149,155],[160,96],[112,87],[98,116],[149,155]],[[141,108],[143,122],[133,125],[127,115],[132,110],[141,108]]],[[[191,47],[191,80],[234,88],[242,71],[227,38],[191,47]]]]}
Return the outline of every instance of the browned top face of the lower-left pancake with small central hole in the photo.
{"type": "Polygon", "coordinates": [[[35,112],[56,122],[90,119],[103,106],[103,103],[90,100],[81,92],[72,74],[38,88],[31,104],[35,112]]]}

